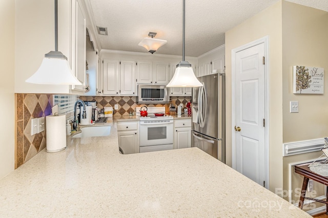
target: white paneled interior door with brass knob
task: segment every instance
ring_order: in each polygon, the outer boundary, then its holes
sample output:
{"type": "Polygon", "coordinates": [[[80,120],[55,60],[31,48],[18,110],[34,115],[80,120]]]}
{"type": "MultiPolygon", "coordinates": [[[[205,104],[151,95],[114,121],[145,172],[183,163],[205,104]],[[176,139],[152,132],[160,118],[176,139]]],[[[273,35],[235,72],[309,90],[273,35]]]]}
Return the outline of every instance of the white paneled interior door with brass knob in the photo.
{"type": "Polygon", "coordinates": [[[264,43],[235,53],[235,169],[265,184],[264,43]]]}

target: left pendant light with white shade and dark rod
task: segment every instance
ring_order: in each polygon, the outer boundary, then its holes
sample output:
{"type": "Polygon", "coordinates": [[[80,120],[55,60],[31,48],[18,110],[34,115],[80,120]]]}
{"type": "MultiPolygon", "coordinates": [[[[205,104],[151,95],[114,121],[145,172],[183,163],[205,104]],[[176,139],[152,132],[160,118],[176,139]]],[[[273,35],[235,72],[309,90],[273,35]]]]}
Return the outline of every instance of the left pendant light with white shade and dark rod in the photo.
{"type": "Polygon", "coordinates": [[[25,82],[49,85],[82,85],[72,74],[67,57],[58,51],[57,0],[55,0],[55,51],[45,54],[39,69],[25,82]]]}

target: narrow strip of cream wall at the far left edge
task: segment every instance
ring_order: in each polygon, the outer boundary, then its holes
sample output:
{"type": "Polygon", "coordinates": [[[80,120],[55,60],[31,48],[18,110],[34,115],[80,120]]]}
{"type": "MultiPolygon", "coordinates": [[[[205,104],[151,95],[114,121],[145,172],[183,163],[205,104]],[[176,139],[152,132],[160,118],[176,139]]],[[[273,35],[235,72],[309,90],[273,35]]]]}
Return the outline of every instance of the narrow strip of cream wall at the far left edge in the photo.
{"type": "Polygon", "coordinates": [[[15,1],[0,1],[0,178],[14,170],[14,70],[15,70],[15,1]]]}

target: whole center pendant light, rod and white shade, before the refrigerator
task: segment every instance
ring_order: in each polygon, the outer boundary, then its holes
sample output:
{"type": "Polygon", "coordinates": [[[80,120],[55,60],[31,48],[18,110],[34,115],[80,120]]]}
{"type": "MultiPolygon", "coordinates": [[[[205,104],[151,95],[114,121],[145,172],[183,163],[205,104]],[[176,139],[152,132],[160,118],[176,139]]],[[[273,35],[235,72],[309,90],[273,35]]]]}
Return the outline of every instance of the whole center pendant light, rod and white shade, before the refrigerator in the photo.
{"type": "Polygon", "coordinates": [[[197,80],[191,64],[185,61],[185,0],[183,0],[182,28],[182,61],[176,65],[173,78],[167,87],[199,87],[202,84],[197,80]]]}

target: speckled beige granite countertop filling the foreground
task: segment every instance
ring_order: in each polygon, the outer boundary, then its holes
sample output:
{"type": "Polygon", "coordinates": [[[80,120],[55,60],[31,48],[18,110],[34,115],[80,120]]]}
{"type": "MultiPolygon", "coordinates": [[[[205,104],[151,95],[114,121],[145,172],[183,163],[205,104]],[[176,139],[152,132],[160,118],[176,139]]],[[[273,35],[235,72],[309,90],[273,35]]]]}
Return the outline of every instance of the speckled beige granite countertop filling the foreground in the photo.
{"type": "Polygon", "coordinates": [[[198,148],[119,154],[113,124],[0,180],[0,217],[312,217],[198,148]]]}

